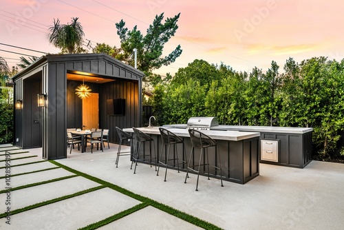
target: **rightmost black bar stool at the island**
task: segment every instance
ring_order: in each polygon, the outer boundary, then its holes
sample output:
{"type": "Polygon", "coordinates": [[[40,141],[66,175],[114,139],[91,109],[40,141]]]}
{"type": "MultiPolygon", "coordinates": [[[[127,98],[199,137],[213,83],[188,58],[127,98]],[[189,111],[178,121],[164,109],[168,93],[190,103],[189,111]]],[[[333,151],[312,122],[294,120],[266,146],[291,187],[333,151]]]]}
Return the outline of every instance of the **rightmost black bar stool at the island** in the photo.
{"type": "MultiPolygon", "coordinates": [[[[185,177],[185,183],[186,183],[186,179],[189,177],[189,170],[191,171],[195,171],[197,173],[197,184],[196,184],[196,191],[198,191],[198,179],[200,177],[200,167],[201,167],[201,163],[202,163],[202,154],[204,152],[204,149],[206,149],[205,154],[204,154],[204,163],[202,164],[203,166],[207,167],[208,170],[208,180],[210,180],[209,177],[209,166],[213,167],[216,174],[216,170],[220,171],[220,178],[221,178],[221,187],[224,187],[224,184],[222,183],[222,169],[221,169],[221,160],[219,158],[219,150],[217,148],[217,143],[215,140],[213,140],[213,138],[211,138],[210,136],[207,136],[206,134],[203,134],[202,132],[196,130],[196,129],[189,129],[189,134],[190,134],[190,138],[191,138],[191,144],[192,144],[192,148],[191,148],[191,154],[190,154],[190,159],[189,159],[189,165],[186,168],[186,177],[185,177]],[[215,147],[215,154],[218,154],[217,157],[219,159],[219,167],[215,166],[215,165],[210,165],[209,164],[209,158],[208,158],[208,147],[215,147]],[[193,167],[198,166],[198,170],[195,170],[193,168],[190,167],[190,163],[191,163],[191,159],[193,158],[193,154],[194,154],[194,150],[195,149],[201,149],[201,154],[200,154],[200,162],[198,165],[193,165],[193,167]]],[[[216,156],[215,156],[216,159],[216,156]]],[[[205,167],[204,167],[205,169],[205,167]]]]}

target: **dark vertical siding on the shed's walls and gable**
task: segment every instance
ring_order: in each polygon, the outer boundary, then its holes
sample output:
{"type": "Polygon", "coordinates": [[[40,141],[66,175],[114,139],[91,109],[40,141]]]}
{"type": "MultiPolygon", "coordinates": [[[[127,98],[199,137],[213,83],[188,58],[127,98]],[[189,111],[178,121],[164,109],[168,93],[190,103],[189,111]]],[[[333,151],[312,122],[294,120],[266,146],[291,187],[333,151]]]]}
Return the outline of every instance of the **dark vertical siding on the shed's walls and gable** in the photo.
{"type": "MultiPolygon", "coordinates": [[[[142,72],[133,67],[125,65],[116,59],[104,54],[49,54],[43,56],[39,61],[30,65],[14,76],[15,96],[14,100],[23,100],[23,111],[15,112],[15,136],[16,145],[23,145],[23,138],[28,138],[30,129],[23,127],[23,113],[33,116],[32,108],[39,109],[38,116],[41,124],[43,158],[58,159],[67,157],[67,146],[65,145],[67,127],[82,127],[82,104],[75,95],[76,81],[67,81],[67,72],[88,72],[114,79],[116,81],[103,84],[88,84],[92,87],[92,92],[98,92],[100,127],[110,129],[110,141],[116,140],[115,126],[137,127],[141,124],[141,78],[142,72]],[[42,70],[39,74],[41,83],[38,86],[32,85],[31,76],[37,74],[36,70],[42,70]],[[30,75],[30,71],[34,74],[30,75]],[[23,95],[23,77],[32,85],[30,98],[23,95]],[[45,107],[36,107],[36,94],[47,94],[45,107]],[[106,111],[107,98],[123,98],[126,100],[125,116],[108,116],[106,111]],[[33,105],[28,107],[28,105],[33,105]],[[31,109],[30,109],[31,108],[31,109]]],[[[39,72],[39,71],[38,71],[39,72]]],[[[38,76],[38,75],[36,75],[38,76]]],[[[80,82],[79,82],[80,83],[80,82]]],[[[28,91],[29,95],[29,91],[28,91]]],[[[32,117],[28,118],[28,123],[32,123],[32,117]]],[[[25,122],[26,124],[26,122],[25,122]]],[[[29,140],[29,139],[28,139],[29,140]]]]}

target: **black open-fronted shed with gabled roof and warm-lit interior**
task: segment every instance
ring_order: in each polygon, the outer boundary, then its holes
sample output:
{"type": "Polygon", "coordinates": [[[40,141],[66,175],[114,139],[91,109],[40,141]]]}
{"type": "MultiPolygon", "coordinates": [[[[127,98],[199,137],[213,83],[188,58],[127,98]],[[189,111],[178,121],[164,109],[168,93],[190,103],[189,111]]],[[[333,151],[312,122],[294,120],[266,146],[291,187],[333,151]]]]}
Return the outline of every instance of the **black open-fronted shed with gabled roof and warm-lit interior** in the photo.
{"type": "Polygon", "coordinates": [[[110,142],[118,143],[116,126],[142,124],[143,76],[107,54],[42,56],[12,78],[14,145],[42,147],[47,160],[66,158],[66,129],[74,127],[109,129],[110,142]],[[83,83],[92,90],[87,100],[76,95],[83,83]]]}

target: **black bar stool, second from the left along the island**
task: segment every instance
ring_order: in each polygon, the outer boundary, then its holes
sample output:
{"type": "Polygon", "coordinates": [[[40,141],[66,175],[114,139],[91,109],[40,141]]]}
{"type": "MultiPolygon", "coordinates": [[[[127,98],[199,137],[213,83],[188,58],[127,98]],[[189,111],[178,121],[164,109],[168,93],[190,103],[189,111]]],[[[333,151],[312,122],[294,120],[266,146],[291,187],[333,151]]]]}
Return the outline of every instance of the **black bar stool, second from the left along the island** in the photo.
{"type": "Polygon", "coordinates": [[[144,158],[144,160],[148,160],[147,158],[145,158],[146,156],[149,156],[149,162],[151,163],[152,159],[155,159],[155,171],[156,171],[156,154],[155,154],[155,144],[154,144],[154,140],[153,138],[151,138],[151,136],[144,134],[144,132],[140,131],[139,129],[136,129],[133,127],[133,136],[136,140],[135,143],[135,148],[134,148],[134,153],[133,153],[133,160],[131,160],[131,167],[130,169],[132,169],[133,167],[133,162],[135,162],[135,169],[133,170],[133,173],[136,174],[136,166],[138,166],[138,157],[139,157],[139,153],[140,153],[140,146],[141,143],[147,142],[149,141],[149,143],[153,142],[153,148],[154,148],[154,157],[152,158],[151,156],[151,147],[149,148],[149,154],[145,154],[144,153],[144,149],[143,149],[143,155],[142,157],[144,158]]]}

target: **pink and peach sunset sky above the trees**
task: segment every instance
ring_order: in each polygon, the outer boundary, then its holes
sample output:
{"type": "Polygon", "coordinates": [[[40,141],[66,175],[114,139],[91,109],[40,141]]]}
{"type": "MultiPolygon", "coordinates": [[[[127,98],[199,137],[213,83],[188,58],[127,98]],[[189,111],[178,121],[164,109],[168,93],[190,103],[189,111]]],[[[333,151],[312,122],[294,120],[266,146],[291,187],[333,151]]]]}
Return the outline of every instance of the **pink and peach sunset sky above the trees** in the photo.
{"type": "MultiPolygon", "coordinates": [[[[121,19],[129,30],[138,25],[145,34],[156,14],[174,17],[179,28],[165,45],[169,54],[177,45],[182,55],[175,63],[155,71],[172,75],[195,59],[224,63],[236,71],[264,72],[277,61],[280,72],[286,59],[300,62],[313,56],[344,58],[344,2],[339,0],[1,0],[0,56],[16,65],[21,54],[42,56],[19,46],[58,53],[50,45],[47,30],[54,19],[62,24],[79,17],[85,39],[120,47],[115,23],[121,19]],[[21,54],[13,54],[10,52],[21,54]]],[[[88,42],[85,40],[85,42],[88,42]]],[[[86,47],[84,47],[86,48],[86,47]]],[[[90,50],[89,52],[92,52],[90,50]]]]}

